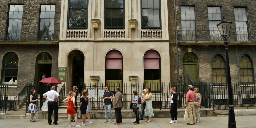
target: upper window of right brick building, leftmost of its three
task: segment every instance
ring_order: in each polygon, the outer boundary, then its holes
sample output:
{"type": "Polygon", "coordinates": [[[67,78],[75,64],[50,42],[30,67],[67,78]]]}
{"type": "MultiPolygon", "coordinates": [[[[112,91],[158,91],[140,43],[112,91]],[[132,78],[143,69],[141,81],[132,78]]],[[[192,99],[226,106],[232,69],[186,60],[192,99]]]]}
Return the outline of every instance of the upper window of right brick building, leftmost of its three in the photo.
{"type": "Polygon", "coordinates": [[[196,41],[195,8],[192,6],[181,6],[180,12],[182,40],[196,41]]]}

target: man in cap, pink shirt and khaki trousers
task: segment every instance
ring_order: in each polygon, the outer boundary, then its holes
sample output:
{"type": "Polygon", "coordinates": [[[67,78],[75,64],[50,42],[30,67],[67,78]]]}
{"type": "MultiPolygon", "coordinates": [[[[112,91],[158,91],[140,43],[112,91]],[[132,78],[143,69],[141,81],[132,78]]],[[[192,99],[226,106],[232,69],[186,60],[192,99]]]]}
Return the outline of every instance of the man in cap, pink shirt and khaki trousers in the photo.
{"type": "Polygon", "coordinates": [[[189,123],[188,125],[194,125],[196,124],[196,116],[195,116],[195,111],[194,111],[194,101],[196,100],[196,93],[192,91],[193,86],[188,85],[188,92],[186,94],[186,102],[185,106],[187,107],[188,110],[188,115],[189,115],[189,123]]]}

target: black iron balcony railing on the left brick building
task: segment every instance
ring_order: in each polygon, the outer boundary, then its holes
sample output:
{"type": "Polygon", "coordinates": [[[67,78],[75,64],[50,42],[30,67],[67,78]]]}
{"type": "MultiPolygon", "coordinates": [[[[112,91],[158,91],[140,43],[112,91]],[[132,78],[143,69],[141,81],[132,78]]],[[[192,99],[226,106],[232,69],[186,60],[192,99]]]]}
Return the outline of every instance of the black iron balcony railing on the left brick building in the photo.
{"type": "Polygon", "coordinates": [[[0,41],[58,41],[59,30],[0,30],[0,41]]]}

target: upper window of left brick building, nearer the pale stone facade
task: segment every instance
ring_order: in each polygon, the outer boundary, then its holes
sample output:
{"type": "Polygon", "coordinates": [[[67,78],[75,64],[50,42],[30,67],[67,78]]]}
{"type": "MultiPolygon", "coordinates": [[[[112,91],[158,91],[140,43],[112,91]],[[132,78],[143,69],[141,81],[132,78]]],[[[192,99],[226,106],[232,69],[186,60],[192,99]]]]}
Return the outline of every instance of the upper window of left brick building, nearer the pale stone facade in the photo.
{"type": "Polygon", "coordinates": [[[54,30],[55,5],[41,5],[38,40],[52,41],[54,30]]]}

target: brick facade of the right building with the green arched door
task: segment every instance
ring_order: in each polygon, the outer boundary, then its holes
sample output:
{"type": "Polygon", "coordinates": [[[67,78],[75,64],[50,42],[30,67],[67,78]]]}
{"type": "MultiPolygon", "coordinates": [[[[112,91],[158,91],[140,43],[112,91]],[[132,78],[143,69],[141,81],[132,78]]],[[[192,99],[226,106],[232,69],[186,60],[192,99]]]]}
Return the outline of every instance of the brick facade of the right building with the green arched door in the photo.
{"type": "MultiPolygon", "coordinates": [[[[232,21],[228,38],[231,81],[255,84],[256,19],[254,12],[256,2],[251,0],[245,0],[242,3],[239,0],[175,0],[174,2],[177,42],[171,38],[175,19],[172,15],[174,8],[170,7],[168,8],[170,63],[177,63],[177,61],[178,63],[170,68],[173,76],[171,81],[177,80],[178,76],[196,74],[193,79],[195,82],[225,84],[225,72],[221,72],[220,68],[223,68],[222,71],[225,69],[225,66],[221,65],[226,62],[226,52],[224,41],[221,40],[219,31],[216,29],[216,24],[220,23],[223,15],[227,21],[232,21]],[[195,57],[194,62],[186,62],[189,53],[195,57]],[[218,66],[215,65],[217,56],[222,63],[218,66]],[[247,59],[247,62],[243,61],[243,58],[247,59]],[[190,65],[196,65],[197,69],[189,72],[187,68],[190,65]]],[[[172,2],[169,4],[173,5],[172,2]]]]}

